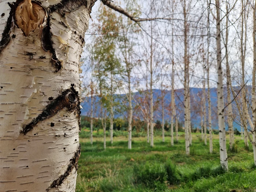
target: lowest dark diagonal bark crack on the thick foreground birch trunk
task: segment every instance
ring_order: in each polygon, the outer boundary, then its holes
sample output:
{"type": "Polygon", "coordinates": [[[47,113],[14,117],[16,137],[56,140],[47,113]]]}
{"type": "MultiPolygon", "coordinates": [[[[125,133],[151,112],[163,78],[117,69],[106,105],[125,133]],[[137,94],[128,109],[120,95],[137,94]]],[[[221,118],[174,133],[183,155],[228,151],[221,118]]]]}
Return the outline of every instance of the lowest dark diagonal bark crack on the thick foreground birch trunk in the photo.
{"type": "Polygon", "coordinates": [[[70,159],[69,165],[67,170],[65,171],[64,174],[62,174],[59,178],[57,178],[56,180],[54,180],[52,182],[52,184],[50,185],[50,187],[48,187],[46,189],[46,191],[49,191],[51,188],[57,188],[59,187],[63,181],[65,180],[65,178],[68,177],[68,175],[71,173],[71,171],[75,168],[76,170],[78,169],[78,159],[80,157],[81,154],[81,145],[79,144],[79,147],[74,155],[74,157],[72,159],[70,159]]]}

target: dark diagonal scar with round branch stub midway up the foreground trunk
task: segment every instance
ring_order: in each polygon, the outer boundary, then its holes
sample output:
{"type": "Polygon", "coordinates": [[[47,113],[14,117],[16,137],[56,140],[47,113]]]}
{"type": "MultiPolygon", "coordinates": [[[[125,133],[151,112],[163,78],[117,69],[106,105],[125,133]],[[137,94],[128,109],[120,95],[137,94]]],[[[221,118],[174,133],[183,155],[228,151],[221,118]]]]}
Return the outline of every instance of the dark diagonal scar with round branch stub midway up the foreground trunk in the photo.
{"type": "MultiPolygon", "coordinates": [[[[68,108],[69,110],[78,109],[80,111],[80,104],[78,104],[78,101],[79,95],[73,87],[63,91],[56,99],[52,100],[52,102],[50,102],[49,105],[46,106],[44,111],[39,114],[37,118],[34,118],[29,124],[23,125],[22,133],[26,135],[27,132],[33,129],[35,125],[37,125],[37,123],[54,116],[63,108],[68,108]]],[[[80,113],[78,114],[80,116],[80,113]]]]}

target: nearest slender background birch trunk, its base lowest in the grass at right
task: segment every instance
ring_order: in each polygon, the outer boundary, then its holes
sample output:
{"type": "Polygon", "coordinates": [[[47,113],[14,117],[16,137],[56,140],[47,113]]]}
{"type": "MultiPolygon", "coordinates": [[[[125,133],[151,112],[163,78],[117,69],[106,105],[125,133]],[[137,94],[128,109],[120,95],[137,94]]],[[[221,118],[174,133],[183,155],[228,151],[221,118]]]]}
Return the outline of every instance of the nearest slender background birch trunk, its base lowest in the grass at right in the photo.
{"type": "Polygon", "coordinates": [[[223,101],[223,77],[221,67],[221,20],[220,20],[220,8],[219,0],[216,0],[216,45],[217,45],[217,72],[218,72],[218,85],[217,85],[217,96],[218,96],[218,124],[219,124],[219,153],[221,166],[224,170],[228,171],[227,165],[227,148],[226,148],[226,131],[224,122],[224,101],[223,101]]]}

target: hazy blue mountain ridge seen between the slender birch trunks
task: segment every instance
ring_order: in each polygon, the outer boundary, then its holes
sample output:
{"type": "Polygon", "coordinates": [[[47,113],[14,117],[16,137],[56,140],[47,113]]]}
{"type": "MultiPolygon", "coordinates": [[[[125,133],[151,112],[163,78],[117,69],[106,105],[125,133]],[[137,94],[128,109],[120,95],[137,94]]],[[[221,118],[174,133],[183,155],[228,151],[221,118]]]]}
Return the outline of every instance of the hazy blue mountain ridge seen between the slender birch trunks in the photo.
{"type": "MultiPolygon", "coordinates": [[[[239,88],[237,88],[239,89],[239,88]]],[[[203,107],[203,102],[201,101],[203,91],[201,88],[196,87],[190,87],[190,98],[191,98],[191,123],[193,127],[199,127],[200,128],[200,121],[201,121],[201,112],[203,107]]],[[[149,90],[148,90],[149,91],[149,90]]],[[[170,122],[170,102],[171,102],[171,91],[170,90],[163,90],[164,91],[164,114],[165,114],[165,121],[170,122]]],[[[135,92],[133,93],[134,98],[140,98],[143,97],[143,94],[146,91],[140,93],[135,92]]],[[[206,89],[207,93],[207,89],[206,89]]],[[[211,113],[212,113],[212,128],[218,129],[218,116],[217,116],[217,88],[211,88],[210,89],[210,95],[211,95],[211,113]]],[[[226,89],[224,88],[224,102],[225,105],[227,105],[226,102],[226,89]]],[[[121,103],[121,100],[124,100],[126,98],[125,94],[120,95],[114,95],[114,102],[121,103]]],[[[149,97],[149,96],[148,96],[149,97]]],[[[99,117],[100,112],[100,98],[98,96],[94,96],[93,99],[93,105],[94,105],[94,117],[99,117]]],[[[176,103],[176,112],[177,116],[179,118],[180,122],[184,122],[184,95],[183,95],[183,89],[177,89],[175,90],[175,103],[176,103]]],[[[161,108],[161,90],[154,89],[153,90],[153,102],[154,105],[158,105],[158,109],[154,111],[154,121],[160,120],[162,121],[162,108],[161,108]]],[[[133,106],[136,106],[136,102],[132,101],[133,106]]],[[[81,115],[83,116],[90,116],[90,105],[91,105],[91,97],[86,97],[84,101],[81,103],[81,106],[83,109],[81,109],[81,115]]],[[[128,105],[128,102],[127,102],[128,105]]],[[[233,101],[233,113],[236,109],[236,103],[233,101]]],[[[208,101],[206,97],[206,111],[207,111],[207,119],[208,119],[208,101]]],[[[118,110],[114,110],[114,117],[120,117],[123,118],[127,115],[126,112],[118,113],[118,110]]],[[[133,111],[135,112],[135,110],[133,111]]],[[[238,114],[238,113],[237,113],[238,114]]],[[[136,116],[139,116],[140,119],[143,119],[142,115],[138,115],[136,113],[136,116]]],[[[237,118],[239,120],[239,117],[237,118]]],[[[227,129],[227,121],[225,121],[226,129],[227,129]]],[[[233,122],[234,128],[237,128],[239,131],[240,129],[240,122],[237,120],[234,120],[233,122]]]]}

